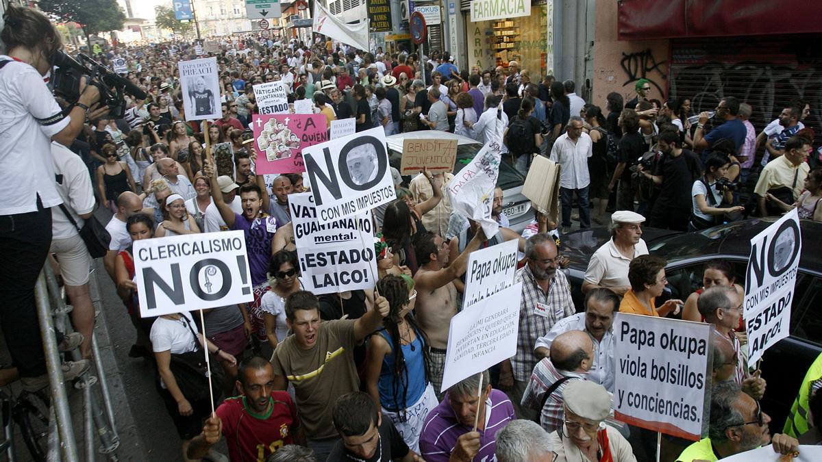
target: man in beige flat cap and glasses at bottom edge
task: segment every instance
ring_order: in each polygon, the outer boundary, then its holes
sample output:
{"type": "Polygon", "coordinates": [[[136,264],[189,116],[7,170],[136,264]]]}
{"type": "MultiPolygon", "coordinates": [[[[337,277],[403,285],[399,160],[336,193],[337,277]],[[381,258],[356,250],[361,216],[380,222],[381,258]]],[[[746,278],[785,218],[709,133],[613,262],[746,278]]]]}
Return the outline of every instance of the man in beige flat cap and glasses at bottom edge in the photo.
{"type": "Polygon", "coordinates": [[[593,381],[569,381],[565,421],[548,435],[556,458],[553,462],[636,462],[630,443],[616,428],[605,424],[611,395],[593,381]]]}

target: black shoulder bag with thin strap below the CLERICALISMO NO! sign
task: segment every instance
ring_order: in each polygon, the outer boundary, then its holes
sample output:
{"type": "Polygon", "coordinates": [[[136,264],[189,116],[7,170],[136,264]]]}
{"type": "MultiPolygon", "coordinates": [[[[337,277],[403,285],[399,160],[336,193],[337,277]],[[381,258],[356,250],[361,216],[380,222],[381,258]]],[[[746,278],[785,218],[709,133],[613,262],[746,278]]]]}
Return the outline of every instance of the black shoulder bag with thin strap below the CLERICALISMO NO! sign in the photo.
{"type": "MultiPolygon", "coordinates": [[[[185,316],[183,316],[185,319],[185,316]]],[[[177,386],[186,397],[186,400],[208,400],[209,386],[208,386],[208,366],[205,364],[205,355],[200,346],[200,340],[192,330],[191,324],[188,320],[184,321],[194,336],[194,342],[197,345],[195,351],[188,353],[172,353],[171,363],[169,368],[177,381],[177,386]]],[[[219,366],[215,355],[209,353],[209,361],[215,367],[211,367],[211,395],[214,396],[215,403],[223,397],[223,383],[225,380],[225,372],[223,367],[219,366]]]]}

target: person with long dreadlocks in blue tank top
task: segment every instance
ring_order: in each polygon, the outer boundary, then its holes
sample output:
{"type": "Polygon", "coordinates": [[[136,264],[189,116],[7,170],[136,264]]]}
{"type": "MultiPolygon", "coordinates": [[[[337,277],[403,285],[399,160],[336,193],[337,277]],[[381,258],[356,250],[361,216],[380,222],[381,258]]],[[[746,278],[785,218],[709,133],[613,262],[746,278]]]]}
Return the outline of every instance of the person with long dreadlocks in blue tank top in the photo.
{"type": "Polygon", "coordinates": [[[419,452],[423,423],[437,400],[427,377],[427,338],[410,314],[417,298],[413,286],[405,275],[387,275],[376,283],[390,308],[369,340],[366,386],[405,444],[419,452]]]}

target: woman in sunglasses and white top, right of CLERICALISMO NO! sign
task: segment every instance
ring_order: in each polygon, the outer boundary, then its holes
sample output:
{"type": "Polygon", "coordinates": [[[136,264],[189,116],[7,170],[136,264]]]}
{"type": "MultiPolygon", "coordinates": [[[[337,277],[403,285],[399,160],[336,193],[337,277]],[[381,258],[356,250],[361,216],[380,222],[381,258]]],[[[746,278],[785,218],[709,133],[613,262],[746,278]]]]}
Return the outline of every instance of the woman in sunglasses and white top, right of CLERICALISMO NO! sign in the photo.
{"type": "Polygon", "coordinates": [[[285,320],[285,299],[302,289],[299,278],[300,269],[297,252],[280,250],[271,256],[268,265],[268,281],[271,290],[264,293],[260,300],[263,321],[266,326],[268,348],[263,347],[263,358],[269,358],[277,344],[285,340],[289,327],[285,320]]]}

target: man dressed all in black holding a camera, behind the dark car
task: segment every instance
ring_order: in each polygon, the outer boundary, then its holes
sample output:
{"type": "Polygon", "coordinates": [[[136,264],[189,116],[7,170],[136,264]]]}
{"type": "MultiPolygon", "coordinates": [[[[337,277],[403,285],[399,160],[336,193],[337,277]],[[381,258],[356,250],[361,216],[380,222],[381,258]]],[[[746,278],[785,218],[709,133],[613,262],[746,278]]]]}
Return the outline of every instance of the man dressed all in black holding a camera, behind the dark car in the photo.
{"type": "Polygon", "coordinates": [[[690,150],[682,149],[679,132],[666,130],[659,134],[658,148],[662,156],[652,171],[643,164],[636,171],[660,187],[659,195],[653,202],[649,224],[654,228],[688,229],[690,216],[690,192],[694,181],[700,178],[702,167],[700,158],[690,150]]]}

